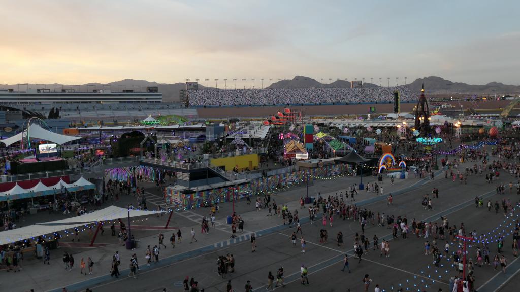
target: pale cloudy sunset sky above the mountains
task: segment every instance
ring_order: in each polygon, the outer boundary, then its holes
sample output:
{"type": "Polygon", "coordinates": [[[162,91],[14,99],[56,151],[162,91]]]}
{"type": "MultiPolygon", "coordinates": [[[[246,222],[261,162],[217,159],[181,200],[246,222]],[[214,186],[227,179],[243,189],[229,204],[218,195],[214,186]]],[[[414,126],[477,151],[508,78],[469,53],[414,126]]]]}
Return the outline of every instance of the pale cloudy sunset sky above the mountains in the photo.
{"type": "Polygon", "coordinates": [[[264,78],[266,86],[295,75],[520,83],[517,0],[0,4],[0,84],[264,78]]]}

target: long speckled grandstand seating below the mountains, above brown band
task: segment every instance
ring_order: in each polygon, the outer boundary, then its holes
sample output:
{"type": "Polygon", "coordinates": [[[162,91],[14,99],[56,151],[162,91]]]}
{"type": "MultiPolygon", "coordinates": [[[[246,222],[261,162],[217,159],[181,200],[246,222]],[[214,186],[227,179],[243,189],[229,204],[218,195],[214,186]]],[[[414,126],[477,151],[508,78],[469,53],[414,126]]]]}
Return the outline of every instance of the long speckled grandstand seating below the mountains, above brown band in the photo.
{"type": "Polygon", "coordinates": [[[264,105],[302,103],[352,103],[393,101],[394,91],[401,101],[417,100],[406,86],[366,88],[266,88],[188,90],[190,105],[264,105]]]}

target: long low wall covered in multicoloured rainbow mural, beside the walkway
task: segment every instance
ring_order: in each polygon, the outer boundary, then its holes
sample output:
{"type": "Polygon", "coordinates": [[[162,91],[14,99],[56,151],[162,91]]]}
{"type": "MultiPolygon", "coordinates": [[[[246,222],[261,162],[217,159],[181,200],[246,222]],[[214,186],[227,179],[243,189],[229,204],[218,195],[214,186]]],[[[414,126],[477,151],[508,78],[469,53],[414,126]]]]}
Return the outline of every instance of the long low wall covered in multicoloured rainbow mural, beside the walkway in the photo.
{"type": "Polygon", "coordinates": [[[279,174],[267,178],[253,179],[251,182],[233,185],[231,187],[210,189],[203,191],[193,191],[190,194],[184,194],[172,188],[166,187],[164,192],[164,200],[177,210],[199,208],[204,205],[209,206],[213,203],[231,202],[233,197],[235,200],[242,200],[252,194],[261,194],[274,191],[276,188],[290,187],[308,180],[316,180],[321,178],[331,178],[334,176],[346,174],[348,167],[346,164],[327,165],[324,167],[316,167],[303,169],[286,174],[279,174]]]}

